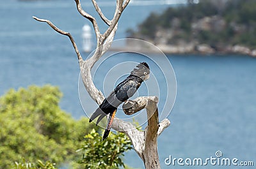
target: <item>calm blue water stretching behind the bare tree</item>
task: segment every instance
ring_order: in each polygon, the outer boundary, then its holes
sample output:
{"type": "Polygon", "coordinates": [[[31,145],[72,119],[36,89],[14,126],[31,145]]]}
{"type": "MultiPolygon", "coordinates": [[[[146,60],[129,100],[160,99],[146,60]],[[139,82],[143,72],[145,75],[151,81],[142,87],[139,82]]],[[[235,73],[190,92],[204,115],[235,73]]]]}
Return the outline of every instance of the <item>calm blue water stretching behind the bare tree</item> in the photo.
{"type": "MultiPolygon", "coordinates": [[[[96,15],[90,2],[82,3],[84,10],[96,15]]],[[[128,6],[116,39],[124,38],[125,30],[135,28],[150,11],[159,12],[166,7],[128,6]]],[[[107,16],[113,15],[113,9],[111,4],[102,6],[107,16]]],[[[58,85],[64,94],[61,108],[76,119],[84,116],[77,92],[79,66],[70,41],[32,18],[35,15],[51,19],[70,32],[81,48],[81,27],[90,23],[79,15],[75,3],[0,1],[0,15],[4,16],[0,19],[0,94],[31,84],[58,85]]],[[[99,22],[99,26],[104,23],[99,22]]],[[[116,62],[126,61],[125,57],[118,58],[116,62]]],[[[161,61],[161,57],[157,59],[161,61]]],[[[256,163],[256,59],[241,55],[170,55],[168,59],[177,78],[177,98],[168,116],[171,126],[158,138],[161,168],[190,168],[164,165],[169,155],[205,159],[216,157],[216,151],[221,151],[223,158],[256,163]]],[[[95,81],[100,88],[100,76],[95,81]]],[[[143,168],[134,152],[124,160],[129,166],[143,168]]],[[[239,168],[191,168],[200,167],[239,168]]]]}

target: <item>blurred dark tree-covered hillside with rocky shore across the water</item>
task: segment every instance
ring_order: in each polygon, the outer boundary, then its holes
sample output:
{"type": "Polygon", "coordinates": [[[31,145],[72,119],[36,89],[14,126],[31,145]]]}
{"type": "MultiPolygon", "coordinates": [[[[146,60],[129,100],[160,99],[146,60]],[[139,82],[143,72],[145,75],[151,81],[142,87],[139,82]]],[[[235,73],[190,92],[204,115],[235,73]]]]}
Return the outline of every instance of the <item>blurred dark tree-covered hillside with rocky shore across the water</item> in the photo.
{"type": "MultiPolygon", "coordinates": [[[[151,15],[129,37],[156,45],[207,44],[214,51],[256,48],[255,0],[201,0],[151,15]]],[[[228,51],[227,51],[228,52],[228,51]]],[[[232,52],[232,51],[231,51],[232,52]]]]}

